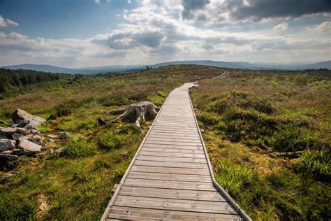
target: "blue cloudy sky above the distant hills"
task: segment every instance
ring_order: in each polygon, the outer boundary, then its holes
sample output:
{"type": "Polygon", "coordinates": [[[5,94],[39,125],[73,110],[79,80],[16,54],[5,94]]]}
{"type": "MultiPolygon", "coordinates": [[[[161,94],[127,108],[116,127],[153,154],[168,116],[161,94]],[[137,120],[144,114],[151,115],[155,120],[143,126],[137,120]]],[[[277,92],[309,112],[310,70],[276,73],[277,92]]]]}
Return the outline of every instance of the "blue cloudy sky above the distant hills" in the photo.
{"type": "Polygon", "coordinates": [[[0,66],[331,60],[330,0],[0,0],[0,66]]]}

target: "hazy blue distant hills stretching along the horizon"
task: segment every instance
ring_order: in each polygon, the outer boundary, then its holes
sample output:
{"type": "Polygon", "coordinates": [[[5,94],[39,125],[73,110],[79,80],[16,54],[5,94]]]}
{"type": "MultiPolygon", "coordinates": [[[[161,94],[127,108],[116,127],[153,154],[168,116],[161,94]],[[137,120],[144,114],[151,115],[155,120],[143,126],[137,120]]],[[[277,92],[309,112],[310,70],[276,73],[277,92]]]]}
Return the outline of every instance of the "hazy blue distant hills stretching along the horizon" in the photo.
{"type": "MultiPolygon", "coordinates": [[[[198,64],[207,66],[218,66],[232,69],[281,69],[281,70],[304,70],[304,69],[331,69],[331,61],[318,62],[314,64],[276,64],[276,63],[249,63],[249,62],[217,62],[210,60],[193,60],[193,61],[175,61],[163,62],[159,64],[148,64],[149,67],[157,68],[174,64],[198,64]]],[[[68,69],[59,66],[41,65],[41,64],[20,64],[13,66],[3,66],[6,69],[27,69],[34,71],[45,71],[50,73],[107,73],[122,72],[130,70],[145,69],[147,65],[112,65],[89,67],[82,69],[68,69]]]]}

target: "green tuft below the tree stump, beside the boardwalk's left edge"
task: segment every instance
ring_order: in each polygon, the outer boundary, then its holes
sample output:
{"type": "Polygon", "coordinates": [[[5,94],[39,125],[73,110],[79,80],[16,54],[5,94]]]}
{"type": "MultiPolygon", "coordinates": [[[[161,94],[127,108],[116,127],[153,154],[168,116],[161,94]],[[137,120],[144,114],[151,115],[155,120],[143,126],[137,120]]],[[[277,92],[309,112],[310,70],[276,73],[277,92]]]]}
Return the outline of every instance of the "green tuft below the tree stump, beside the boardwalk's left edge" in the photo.
{"type": "Polygon", "coordinates": [[[112,148],[122,148],[126,141],[125,134],[112,134],[108,132],[98,137],[98,145],[101,148],[110,150],[112,148]]]}

